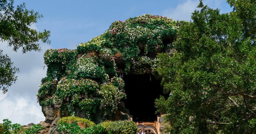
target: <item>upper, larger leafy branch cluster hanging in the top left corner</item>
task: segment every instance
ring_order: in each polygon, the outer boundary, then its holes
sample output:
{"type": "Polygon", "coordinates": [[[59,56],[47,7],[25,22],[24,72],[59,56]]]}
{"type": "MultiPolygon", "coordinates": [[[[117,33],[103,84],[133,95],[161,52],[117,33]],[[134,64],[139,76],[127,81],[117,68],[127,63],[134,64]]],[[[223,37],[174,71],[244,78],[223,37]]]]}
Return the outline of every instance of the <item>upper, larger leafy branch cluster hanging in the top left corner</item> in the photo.
{"type": "Polygon", "coordinates": [[[30,26],[37,23],[43,16],[38,12],[26,9],[25,3],[14,9],[13,0],[0,1],[1,18],[1,41],[8,41],[8,46],[17,51],[20,47],[22,52],[39,51],[39,41],[50,43],[50,31],[38,32],[30,26]]]}

